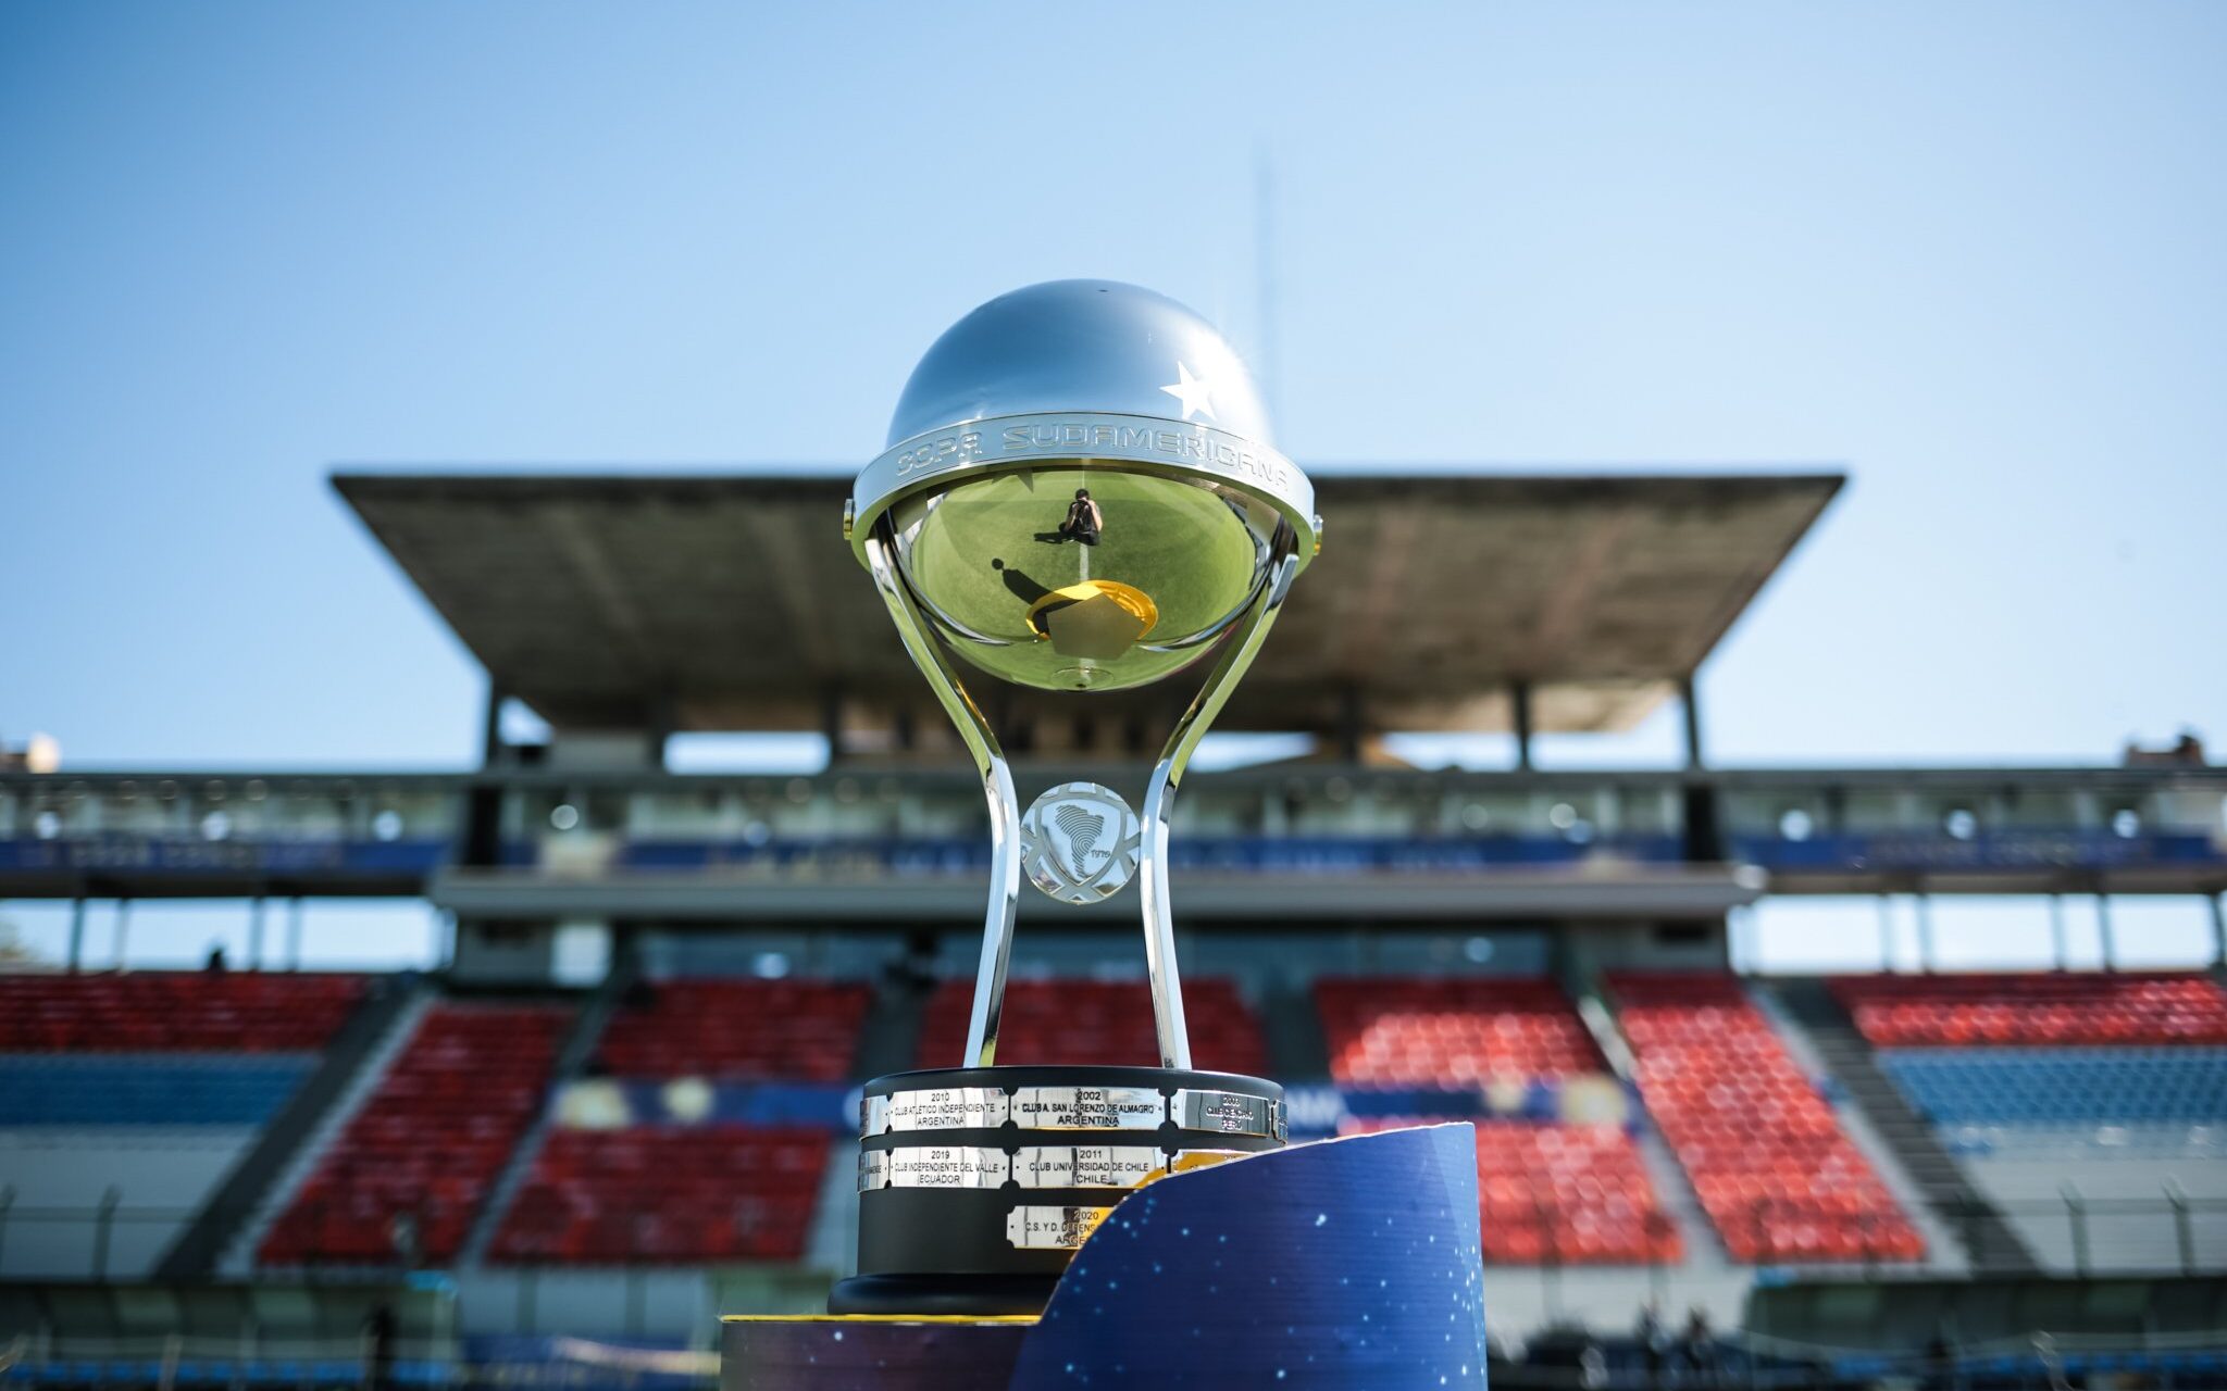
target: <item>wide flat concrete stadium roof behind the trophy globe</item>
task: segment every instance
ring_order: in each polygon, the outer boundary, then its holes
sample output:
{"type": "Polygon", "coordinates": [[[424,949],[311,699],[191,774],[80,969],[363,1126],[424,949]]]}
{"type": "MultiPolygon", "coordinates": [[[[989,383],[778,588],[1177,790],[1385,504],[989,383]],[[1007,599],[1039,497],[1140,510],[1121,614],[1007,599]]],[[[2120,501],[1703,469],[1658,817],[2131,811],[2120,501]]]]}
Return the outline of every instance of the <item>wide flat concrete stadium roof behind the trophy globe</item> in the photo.
{"type": "MultiPolygon", "coordinates": [[[[1628,728],[1688,677],[1837,472],[1318,470],[1321,559],[1220,730],[1628,728]]],[[[492,681],[559,730],[942,723],[842,543],[851,474],[339,472],[334,487],[492,681]]],[[[1129,694],[991,690],[1004,719],[1160,723],[1129,694]]]]}

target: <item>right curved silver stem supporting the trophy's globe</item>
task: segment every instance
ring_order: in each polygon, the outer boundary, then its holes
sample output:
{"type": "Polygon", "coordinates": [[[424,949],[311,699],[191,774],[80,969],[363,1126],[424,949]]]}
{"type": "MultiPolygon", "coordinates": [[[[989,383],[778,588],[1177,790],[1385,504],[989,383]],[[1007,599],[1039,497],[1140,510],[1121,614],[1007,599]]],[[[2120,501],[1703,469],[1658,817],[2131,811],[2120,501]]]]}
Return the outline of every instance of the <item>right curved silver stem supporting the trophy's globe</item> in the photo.
{"type": "Polygon", "coordinates": [[[1183,1022],[1183,981],[1176,977],[1176,917],[1167,901],[1167,823],[1176,810],[1176,786],[1183,770],[1191,766],[1191,752],[1205,737],[1207,726],[1229,703],[1229,692],[1252,659],[1260,652],[1260,641],[1283,612],[1283,601],[1292,592],[1298,574],[1298,556],[1285,552],[1260,585],[1260,596],[1238,623],[1238,632],[1223,648],[1207,683],[1191,697],[1191,706],[1176,721],[1176,730],[1160,750],[1160,761],[1151,768],[1151,783],[1145,788],[1142,846],[1138,850],[1138,890],[1145,899],[1145,968],[1151,975],[1151,1024],[1160,1035],[1160,1066],[1191,1066],[1191,1030],[1183,1022]]]}

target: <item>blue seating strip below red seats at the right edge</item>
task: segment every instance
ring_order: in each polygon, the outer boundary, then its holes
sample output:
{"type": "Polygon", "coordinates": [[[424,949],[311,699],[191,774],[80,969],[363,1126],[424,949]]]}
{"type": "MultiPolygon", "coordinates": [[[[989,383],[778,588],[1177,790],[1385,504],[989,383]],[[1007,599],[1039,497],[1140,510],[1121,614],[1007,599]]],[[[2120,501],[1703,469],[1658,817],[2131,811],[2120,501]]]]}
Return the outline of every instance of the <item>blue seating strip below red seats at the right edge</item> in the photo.
{"type": "Polygon", "coordinates": [[[1880,1066],[1937,1126],[2227,1122],[2227,1048],[1893,1048],[1880,1066]]]}

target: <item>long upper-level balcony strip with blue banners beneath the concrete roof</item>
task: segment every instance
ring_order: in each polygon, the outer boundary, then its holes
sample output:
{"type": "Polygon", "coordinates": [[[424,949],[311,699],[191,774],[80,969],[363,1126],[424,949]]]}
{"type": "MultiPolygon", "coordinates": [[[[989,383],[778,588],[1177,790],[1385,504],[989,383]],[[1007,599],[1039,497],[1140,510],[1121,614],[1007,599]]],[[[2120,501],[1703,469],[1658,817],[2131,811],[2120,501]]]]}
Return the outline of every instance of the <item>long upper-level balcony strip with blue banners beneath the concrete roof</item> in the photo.
{"type": "MultiPolygon", "coordinates": [[[[971,877],[987,855],[980,839],[902,835],[909,821],[951,823],[975,808],[980,792],[953,768],[880,788],[844,770],[0,772],[0,879],[42,881],[40,892],[85,875],[412,892],[457,857],[463,806],[490,790],[512,830],[474,850],[490,857],[483,872],[537,872],[555,859],[579,868],[588,852],[617,870],[971,877]],[[840,835],[826,835],[831,823],[840,835]]],[[[2140,868],[2198,892],[2205,875],[2189,870],[2227,864],[2223,792],[2220,768],[1232,770],[1198,779],[1187,801],[1196,830],[1176,855],[1198,872],[1494,872],[1603,857],[1668,864],[1708,846],[1710,859],[1786,879],[1989,870],[2031,875],[2044,890],[2067,870],[2140,868]],[[1713,792],[1715,835],[1686,823],[1688,786],[1713,792]]]]}

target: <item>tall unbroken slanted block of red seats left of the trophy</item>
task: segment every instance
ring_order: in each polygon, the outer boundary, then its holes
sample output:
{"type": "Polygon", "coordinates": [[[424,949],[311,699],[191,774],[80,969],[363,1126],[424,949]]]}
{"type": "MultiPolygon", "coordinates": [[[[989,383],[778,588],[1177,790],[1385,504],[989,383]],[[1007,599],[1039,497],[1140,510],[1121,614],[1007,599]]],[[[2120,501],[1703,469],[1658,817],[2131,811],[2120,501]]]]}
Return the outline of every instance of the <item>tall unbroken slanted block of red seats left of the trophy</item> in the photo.
{"type": "Polygon", "coordinates": [[[416,1220],[428,1264],[454,1260],[472,1215],[541,1111],[572,1010],[428,1010],[363,1111],[263,1237],[267,1266],[392,1264],[394,1217],[416,1220]]]}

